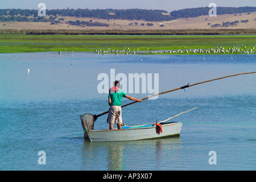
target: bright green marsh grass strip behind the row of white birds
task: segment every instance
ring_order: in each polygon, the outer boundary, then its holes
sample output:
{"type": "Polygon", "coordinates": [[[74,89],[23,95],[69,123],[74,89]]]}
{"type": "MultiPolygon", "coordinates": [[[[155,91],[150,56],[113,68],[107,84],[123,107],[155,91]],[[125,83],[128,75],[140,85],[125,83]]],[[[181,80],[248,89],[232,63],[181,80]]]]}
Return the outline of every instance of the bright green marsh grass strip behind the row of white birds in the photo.
{"type": "MultiPolygon", "coordinates": [[[[252,48],[256,35],[10,35],[0,34],[0,53],[92,52],[122,50],[149,53],[158,50],[252,48]],[[137,50],[138,49],[138,50],[137,50]]],[[[108,51],[109,53],[109,51],[108,51]]],[[[177,54],[181,54],[180,52],[177,54]]],[[[184,54],[184,51],[183,51],[184,54]]],[[[192,54],[191,52],[185,54],[192,54]]],[[[195,53],[193,53],[195,54],[195,53]]]]}

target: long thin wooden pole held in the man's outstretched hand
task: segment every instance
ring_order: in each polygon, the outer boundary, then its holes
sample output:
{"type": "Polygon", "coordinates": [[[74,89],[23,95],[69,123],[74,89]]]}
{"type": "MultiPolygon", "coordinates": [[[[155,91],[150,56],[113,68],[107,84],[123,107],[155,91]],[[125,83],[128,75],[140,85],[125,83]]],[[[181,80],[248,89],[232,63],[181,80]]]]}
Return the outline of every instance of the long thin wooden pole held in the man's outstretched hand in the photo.
{"type": "MultiPolygon", "coordinates": [[[[181,86],[180,88],[168,90],[168,91],[166,91],[166,92],[161,92],[161,93],[158,93],[158,94],[154,94],[154,95],[152,95],[152,96],[149,96],[149,97],[142,98],[142,100],[146,100],[146,99],[151,98],[151,97],[159,96],[159,95],[164,94],[164,93],[174,92],[175,90],[185,89],[185,88],[188,88],[188,87],[191,87],[191,86],[195,86],[195,85],[199,85],[199,84],[204,84],[204,83],[206,83],[206,82],[210,82],[210,81],[214,81],[214,80],[221,80],[221,79],[228,78],[228,77],[233,77],[233,76],[238,76],[238,75],[246,75],[246,74],[252,74],[252,73],[256,73],[256,72],[238,73],[238,74],[236,74],[236,75],[229,75],[229,76],[224,76],[224,77],[220,77],[220,78],[215,78],[215,79],[212,79],[212,80],[207,80],[207,81],[198,82],[198,83],[192,84],[192,85],[189,85],[189,84],[188,84],[188,85],[185,85],[185,86],[181,86]]],[[[121,107],[126,107],[126,106],[129,106],[129,105],[131,105],[131,104],[135,104],[136,102],[138,102],[138,101],[131,102],[131,103],[126,104],[126,105],[123,105],[123,106],[121,106],[121,107]]],[[[104,112],[104,113],[101,113],[101,114],[99,114],[99,115],[96,115],[96,117],[94,117],[94,118],[98,118],[98,117],[100,117],[101,115],[104,115],[104,114],[107,114],[107,113],[109,113],[109,111],[106,111],[106,112],[104,112]]]]}

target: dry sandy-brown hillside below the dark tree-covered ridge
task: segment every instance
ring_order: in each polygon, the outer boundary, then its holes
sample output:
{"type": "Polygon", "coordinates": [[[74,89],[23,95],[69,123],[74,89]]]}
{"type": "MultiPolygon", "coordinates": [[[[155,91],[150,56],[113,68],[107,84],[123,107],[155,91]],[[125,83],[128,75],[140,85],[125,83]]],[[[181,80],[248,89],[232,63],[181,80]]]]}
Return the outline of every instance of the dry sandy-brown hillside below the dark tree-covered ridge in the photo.
{"type": "Polygon", "coordinates": [[[172,20],[170,22],[146,22],[143,20],[115,20],[115,19],[96,19],[96,18],[75,18],[62,16],[64,18],[58,24],[50,24],[49,22],[1,22],[0,29],[16,29],[16,30],[185,30],[185,29],[217,29],[217,28],[240,28],[240,29],[256,29],[256,12],[242,13],[237,15],[217,15],[216,17],[199,16],[197,18],[183,18],[172,20]],[[109,27],[81,27],[71,26],[67,24],[69,20],[84,20],[100,23],[108,23],[109,27]],[[241,20],[248,20],[247,23],[241,23],[241,20]],[[222,24],[222,22],[235,22],[236,26],[228,27],[211,27],[214,24],[222,24]],[[138,24],[135,25],[135,22],[138,24]],[[133,23],[133,24],[131,24],[133,23]],[[144,23],[144,26],[142,24],[144,23]],[[152,23],[154,26],[147,26],[147,23],[152,23]],[[160,27],[160,25],[164,25],[160,27]]]}

